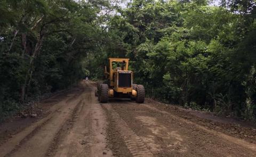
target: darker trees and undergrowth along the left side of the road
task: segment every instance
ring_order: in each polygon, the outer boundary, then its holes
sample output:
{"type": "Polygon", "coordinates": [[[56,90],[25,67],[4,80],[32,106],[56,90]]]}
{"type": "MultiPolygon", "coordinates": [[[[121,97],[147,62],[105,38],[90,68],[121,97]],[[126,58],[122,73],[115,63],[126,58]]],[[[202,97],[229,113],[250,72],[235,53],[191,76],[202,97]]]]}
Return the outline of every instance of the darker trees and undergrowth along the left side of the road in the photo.
{"type": "Polygon", "coordinates": [[[0,117],[88,75],[107,1],[0,1],[0,117]]]}

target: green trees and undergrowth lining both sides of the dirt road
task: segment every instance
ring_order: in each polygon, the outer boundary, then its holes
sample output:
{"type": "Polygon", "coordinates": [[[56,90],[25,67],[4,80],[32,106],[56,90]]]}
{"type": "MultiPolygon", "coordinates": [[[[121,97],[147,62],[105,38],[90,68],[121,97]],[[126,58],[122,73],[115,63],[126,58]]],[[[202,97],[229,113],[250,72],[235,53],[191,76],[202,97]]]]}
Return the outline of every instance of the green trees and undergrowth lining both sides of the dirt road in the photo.
{"type": "Polygon", "coordinates": [[[0,1],[0,114],[128,57],[147,95],[256,118],[253,0],[0,1]],[[118,5],[117,5],[118,4],[118,5]]]}

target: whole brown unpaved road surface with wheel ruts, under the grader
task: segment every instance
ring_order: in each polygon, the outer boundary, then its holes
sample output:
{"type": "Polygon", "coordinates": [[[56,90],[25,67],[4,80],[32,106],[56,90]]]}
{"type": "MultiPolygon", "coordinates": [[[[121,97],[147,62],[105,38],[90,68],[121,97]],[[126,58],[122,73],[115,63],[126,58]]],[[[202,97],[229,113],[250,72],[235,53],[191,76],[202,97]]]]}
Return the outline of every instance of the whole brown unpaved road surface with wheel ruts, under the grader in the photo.
{"type": "Polygon", "coordinates": [[[0,125],[0,156],[256,156],[256,129],[147,100],[99,103],[95,83],[42,101],[37,119],[0,125]]]}

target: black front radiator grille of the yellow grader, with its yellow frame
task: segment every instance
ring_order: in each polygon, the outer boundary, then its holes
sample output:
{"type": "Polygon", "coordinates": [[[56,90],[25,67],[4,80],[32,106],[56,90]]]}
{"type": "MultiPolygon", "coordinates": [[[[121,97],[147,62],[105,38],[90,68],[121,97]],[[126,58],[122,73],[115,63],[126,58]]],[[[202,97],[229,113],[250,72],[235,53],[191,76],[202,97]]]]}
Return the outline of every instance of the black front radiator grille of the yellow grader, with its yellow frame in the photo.
{"type": "Polygon", "coordinates": [[[132,87],[132,71],[117,71],[117,87],[131,88],[132,87]]]}

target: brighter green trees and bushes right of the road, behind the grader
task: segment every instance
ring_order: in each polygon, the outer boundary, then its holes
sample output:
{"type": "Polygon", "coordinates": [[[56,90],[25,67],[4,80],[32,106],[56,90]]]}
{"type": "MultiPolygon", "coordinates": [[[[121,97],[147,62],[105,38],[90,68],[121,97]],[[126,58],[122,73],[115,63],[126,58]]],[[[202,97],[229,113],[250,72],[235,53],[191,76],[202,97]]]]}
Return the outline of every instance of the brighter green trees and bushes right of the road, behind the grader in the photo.
{"type": "Polygon", "coordinates": [[[102,53],[131,58],[150,97],[253,119],[255,11],[253,1],[134,0],[109,21],[118,46],[102,53]]]}

